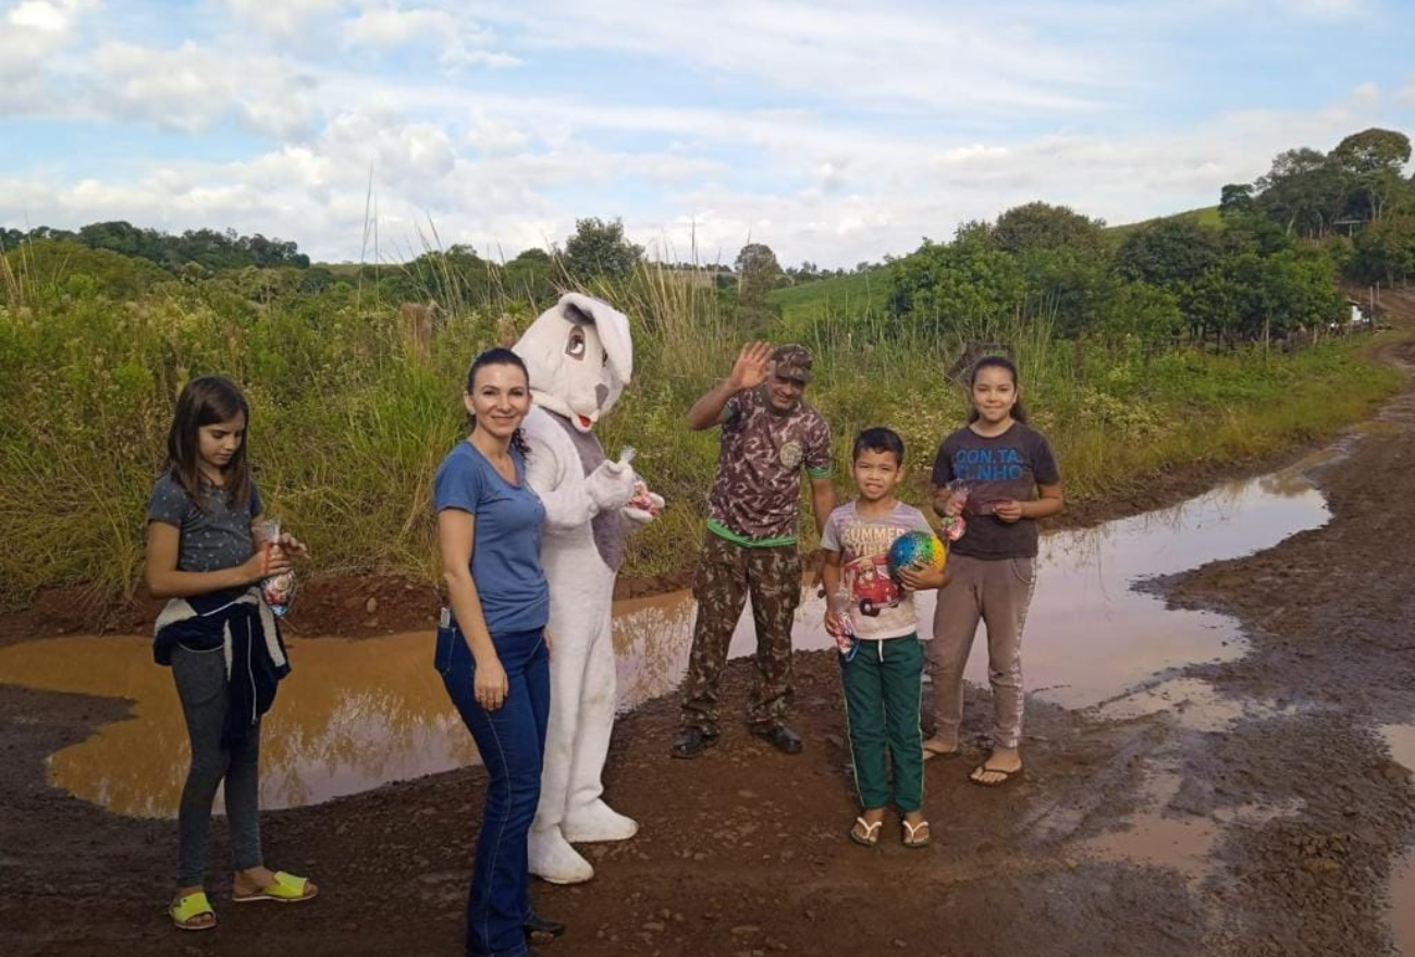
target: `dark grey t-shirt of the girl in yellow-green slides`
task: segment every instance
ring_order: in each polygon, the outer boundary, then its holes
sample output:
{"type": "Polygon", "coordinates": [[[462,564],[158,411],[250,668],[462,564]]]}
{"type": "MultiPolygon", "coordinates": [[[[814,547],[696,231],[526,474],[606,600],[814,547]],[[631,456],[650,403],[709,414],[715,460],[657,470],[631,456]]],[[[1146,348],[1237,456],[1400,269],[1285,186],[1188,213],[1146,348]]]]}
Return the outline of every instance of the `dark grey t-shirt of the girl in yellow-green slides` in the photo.
{"type": "Polygon", "coordinates": [[[226,504],[224,488],[207,481],[201,483],[201,493],[207,497],[205,510],[198,508],[181,483],[167,473],[153,486],[147,500],[147,521],[175,525],[181,532],[178,572],[219,572],[255,554],[250,522],[265,508],[256,483],[250,483],[250,500],[239,508],[226,504]]]}

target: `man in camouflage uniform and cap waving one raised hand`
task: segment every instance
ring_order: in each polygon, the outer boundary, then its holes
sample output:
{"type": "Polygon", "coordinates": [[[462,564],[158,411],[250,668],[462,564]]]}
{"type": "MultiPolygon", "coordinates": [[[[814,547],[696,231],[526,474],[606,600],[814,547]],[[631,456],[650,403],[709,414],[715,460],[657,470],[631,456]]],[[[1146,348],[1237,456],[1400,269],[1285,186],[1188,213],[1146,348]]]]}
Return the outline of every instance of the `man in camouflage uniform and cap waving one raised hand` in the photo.
{"type": "Polygon", "coordinates": [[[801,752],[785,715],[791,621],[801,602],[802,470],[811,478],[816,529],[835,507],[831,429],[801,401],[809,381],[811,351],[804,345],[773,351],[768,343],[750,343],[732,375],[688,411],[693,429],[722,426],[722,447],[693,575],[698,617],[674,757],[696,757],[717,743],[717,684],[749,593],[757,624],[757,684],[747,723],[778,750],[801,752]]]}

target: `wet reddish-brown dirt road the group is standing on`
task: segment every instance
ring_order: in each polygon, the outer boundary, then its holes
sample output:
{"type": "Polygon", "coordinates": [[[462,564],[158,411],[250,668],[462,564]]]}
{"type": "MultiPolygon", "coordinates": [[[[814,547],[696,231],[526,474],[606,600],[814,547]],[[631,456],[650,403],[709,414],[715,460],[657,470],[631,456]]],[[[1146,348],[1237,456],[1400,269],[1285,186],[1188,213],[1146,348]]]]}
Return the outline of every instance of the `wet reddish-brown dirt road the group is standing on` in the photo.
{"type": "MultiPolygon", "coordinates": [[[[1391,358],[1415,362],[1415,348],[1391,358]]],[[[829,653],[798,655],[798,757],[729,726],[708,756],[674,762],[672,701],[624,718],[607,784],[642,832],[590,848],[594,882],[535,886],[570,924],[545,953],[1398,953],[1387,895],[1415,841],[1415,787],[1380,729],[1415,723],[1415,392],[1313,477],[1326,527],[1150,583],[1237,616],[1247,655],[1163,675],[1149,692],[1163,706],[1131,719],[1030,701],[1019,783],[966,784],[981,752],[927,766],[925,851],[900,847],[893,823],[877,851],[845,837],[829,653]]],[[[743,701],[746,682],[734,663],[727,699],[743,701]]],[[[971,728],[985,706],[969,697],[971,728]]],[[[0,687],[3,953],[461,953],[480,770],[267,814],[269,859],[316,875],[324,898],[235,909],[219,879],[221,927],[177,934],[163,916],[173,825],[108,814],[44,779],[47,755],[126,712],[0,687]]]]}

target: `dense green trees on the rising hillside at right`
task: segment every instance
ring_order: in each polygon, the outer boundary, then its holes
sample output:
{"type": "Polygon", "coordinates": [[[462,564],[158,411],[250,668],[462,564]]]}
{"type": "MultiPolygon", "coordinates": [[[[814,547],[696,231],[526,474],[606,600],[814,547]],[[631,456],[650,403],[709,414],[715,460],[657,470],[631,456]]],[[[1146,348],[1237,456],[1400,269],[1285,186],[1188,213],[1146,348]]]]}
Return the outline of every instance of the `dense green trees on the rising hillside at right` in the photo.
{"type": "Polygon", "coordinates": [[[1286,150],[1251,184],[1197,215],[1107,229],[1068,207],[1030,202],[925,239],[889,265],[896,326],[971,327],[1049,320],[1068,338],[1288,338],[1344,316],[1339,280],[1415,275],[1411,142],[1370,129],[1329,153],[1286,150]]]}

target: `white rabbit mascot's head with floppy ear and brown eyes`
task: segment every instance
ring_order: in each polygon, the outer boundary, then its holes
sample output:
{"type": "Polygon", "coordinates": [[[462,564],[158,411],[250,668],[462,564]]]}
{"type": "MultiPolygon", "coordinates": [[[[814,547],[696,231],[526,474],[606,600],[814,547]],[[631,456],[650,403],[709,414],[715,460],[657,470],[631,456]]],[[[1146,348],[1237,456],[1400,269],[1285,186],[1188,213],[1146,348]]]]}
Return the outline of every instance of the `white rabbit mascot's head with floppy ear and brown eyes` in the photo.
{"type": "Polygon", "coordinates": [[[634,371],[628,319],[591,296],[566,293],[514,347],[531,371],[535,403],[590,432],[634,371]]]}

